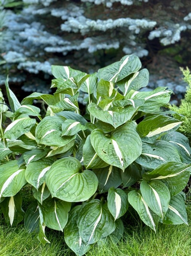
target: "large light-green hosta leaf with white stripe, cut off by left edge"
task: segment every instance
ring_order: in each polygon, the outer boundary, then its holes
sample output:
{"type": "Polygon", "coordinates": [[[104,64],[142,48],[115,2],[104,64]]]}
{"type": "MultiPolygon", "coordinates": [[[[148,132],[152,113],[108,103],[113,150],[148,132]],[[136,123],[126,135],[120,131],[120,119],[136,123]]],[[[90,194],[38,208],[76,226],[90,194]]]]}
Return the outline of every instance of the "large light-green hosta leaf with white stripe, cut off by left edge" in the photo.
{"type": "Polygon", "coordinates": [[[0,198],[12,197],[26,184],[25,169],[18,167],[17,160],[0,166],[0,198]]]}

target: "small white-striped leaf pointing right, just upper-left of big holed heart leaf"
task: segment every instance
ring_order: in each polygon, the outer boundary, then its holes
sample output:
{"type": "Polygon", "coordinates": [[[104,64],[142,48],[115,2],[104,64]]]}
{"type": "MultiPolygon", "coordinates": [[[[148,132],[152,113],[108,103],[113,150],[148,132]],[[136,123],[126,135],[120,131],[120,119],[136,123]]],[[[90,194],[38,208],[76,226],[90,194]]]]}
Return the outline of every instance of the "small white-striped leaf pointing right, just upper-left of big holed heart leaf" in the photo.
{"type": "Polygon", "coordinates": [[[86,126],[83,126],[80,122],[72,119],[67,119],[62,124],[62,136],[72,136],[77,134],[80,130],[86,130],[86,126]]]}

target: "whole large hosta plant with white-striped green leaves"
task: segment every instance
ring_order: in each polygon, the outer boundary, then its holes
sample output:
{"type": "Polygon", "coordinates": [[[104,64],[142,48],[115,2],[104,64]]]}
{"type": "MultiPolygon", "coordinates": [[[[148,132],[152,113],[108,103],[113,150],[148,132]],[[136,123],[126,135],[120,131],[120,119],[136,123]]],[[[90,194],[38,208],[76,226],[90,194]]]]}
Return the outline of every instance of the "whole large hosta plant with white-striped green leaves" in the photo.
{"type": "Polygon", "coordinates": [[[181,122],[163,111],[168,88],[138,91],[149,79],[140,68],[134,55],[94,74],[52,66],[55,93],[34,92],[21,104],[6,82],[13,115],[0,159],[5,149],[20,153],[0,166],[7,223],[24,218],[42,243],[49,243],[46,227],[63,231],[77,255],[97,242],[117,242],[129,205],[155,232],[159,221],[187,224],[182,190],[191,170],[188,139],[176,132],[181,122]],[[88,95],[86,111],[79,108],[80,90],[88,95]],[[34,99],[44,101],[45,116],[34,99]],[[35,200],[24,213],[20,190],[26,185],[35,200]]]}

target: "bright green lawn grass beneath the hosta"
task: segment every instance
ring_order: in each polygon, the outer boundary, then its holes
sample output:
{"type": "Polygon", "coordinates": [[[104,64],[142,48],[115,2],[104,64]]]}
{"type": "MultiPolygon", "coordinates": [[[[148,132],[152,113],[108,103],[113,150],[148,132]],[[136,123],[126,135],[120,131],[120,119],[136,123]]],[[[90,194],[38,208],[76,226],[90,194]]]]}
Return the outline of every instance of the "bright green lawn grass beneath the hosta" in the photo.
{"type": "MultiPolygon", "coordinates": [[[[159,225],[157,234],[136,215],[127,215],[123,239],[102,248],[94,246],[87,256],[189,256],[191,255],[191,200],[187,201],[189,226],[159,225]],[[131,223],[128,224],[128,223],[131,223]]],[[[61,232],[47,232],[51,244],[43,246],[36,234],[28,234],[23,225],[7,228],[0,219],[0,256],[73,256],[61,232]]]]}

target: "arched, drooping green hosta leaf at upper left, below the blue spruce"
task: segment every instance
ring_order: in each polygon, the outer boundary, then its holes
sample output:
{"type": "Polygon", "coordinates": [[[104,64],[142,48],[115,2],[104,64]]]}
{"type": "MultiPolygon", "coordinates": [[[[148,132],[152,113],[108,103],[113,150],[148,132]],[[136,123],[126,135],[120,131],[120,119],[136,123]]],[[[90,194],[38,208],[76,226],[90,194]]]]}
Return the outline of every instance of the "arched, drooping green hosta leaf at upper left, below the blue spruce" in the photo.
{"type": "Polygon", "coordinates": [[[33,92],[29,96],[25,97],[23,101],[21,101],[22,105],[32,105],[32,102],[34,99],[41,99],[43,100],[47,105],[54,105],[54,96],[50,94],[44,94],[41,92],[33,92]]]}

